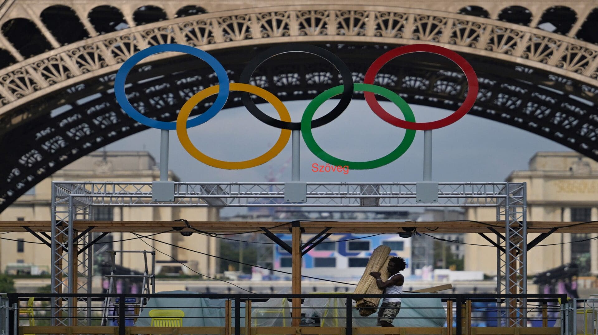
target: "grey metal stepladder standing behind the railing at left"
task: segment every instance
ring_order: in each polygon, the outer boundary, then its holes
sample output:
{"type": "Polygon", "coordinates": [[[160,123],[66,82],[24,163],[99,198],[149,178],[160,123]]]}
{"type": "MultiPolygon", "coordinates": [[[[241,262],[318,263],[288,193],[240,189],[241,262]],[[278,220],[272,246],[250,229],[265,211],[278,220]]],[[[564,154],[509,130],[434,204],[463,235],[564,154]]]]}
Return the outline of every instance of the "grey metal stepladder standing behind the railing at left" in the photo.
{"type": "MultiPolygon", "coordinates": [[[[155,293],[155,251],[147,250],[109,250],[106,251],[110,254],[111,258],[111,271],[110,275],[107,275],[108,294],[117,293],[117,279],[125,278],[142,278],[142,294],[155,293]],[[116,254],[117,253],[139,253],[144,255],[145,269],[142,275],[117,275],[116,269],[116,254]],[[151,255],[151,272],[148,264],[148,254],[151,255]]],[[[125,319],[133,319],[134,321],[139,317],[142,306],[147,304],[147,298],[125,298],[125,319]]],[[[118,304],[120,303],[119,298],[106,298],[103,303],[103,317],[102,325],[110,325],[109,323],[118,319],[118,304]]]]}

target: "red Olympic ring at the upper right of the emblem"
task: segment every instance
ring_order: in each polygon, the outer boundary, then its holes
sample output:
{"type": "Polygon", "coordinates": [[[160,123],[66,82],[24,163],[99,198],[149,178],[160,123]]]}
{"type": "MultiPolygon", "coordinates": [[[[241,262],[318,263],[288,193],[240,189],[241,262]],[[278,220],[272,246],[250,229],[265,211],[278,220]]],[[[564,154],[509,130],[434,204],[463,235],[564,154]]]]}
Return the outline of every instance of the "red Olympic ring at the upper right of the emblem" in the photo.
{"type": "Polygon", "coordinates": [[[388,63],[390,60],[394,59],[395,57],[401,56],[402,54],[407,53],[414,53],[414,52],[428,52],[434,54],[440,54],[440,56],[447,57],[448,59],[452,60],[463,73],[465,74],[465,78],[467,79],[468,90],[467,90],[467,97],[465,101],[463,101],[462,105],[455,111],[453,114],[442,118],[440,120],[431,121],[431,122],[410,122],[401,120],[400,118],[394,117],[390,115],[389,112],[385,111],[380,103],[376,100],[376,96],[374,93],[371,92],[364,92],[365,101],[370,106],[371,110],[376,113],[382,120],[392,124],[393,126],[402,128],[402,129],[413,129],[413,130],[431,130],[431,129],[438,129],[442,127],[446,127],[451,123],[459,120],[463,117],[463,115],[469,112],[474,106],[475,100],[478,97],[478,76],[475,74],[474,68],[465,60],[463,57],[459,56],[454,51],[451,51],[447,48],[438,47],[437,45],[431,44],[412,44],[412,45],[404,45],[402,47],[394,48],[382,56],[378,57],[370,65],[370,68],[365,73],[364,84],[374,84],[374,79],[382,68],[383,65],[388,63]]]}

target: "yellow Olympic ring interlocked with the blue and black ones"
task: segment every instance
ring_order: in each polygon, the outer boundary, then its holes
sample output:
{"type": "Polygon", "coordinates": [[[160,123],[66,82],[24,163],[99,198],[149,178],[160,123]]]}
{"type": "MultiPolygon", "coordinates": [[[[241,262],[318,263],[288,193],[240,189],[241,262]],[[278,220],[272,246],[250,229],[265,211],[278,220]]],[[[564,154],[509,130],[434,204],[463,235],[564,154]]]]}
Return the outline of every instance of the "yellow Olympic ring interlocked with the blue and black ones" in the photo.
{"type": "MultiPolygon", "coordinates": [[[[227,162],[225,160],[218,160],[213,159],[212,157],[206,156],[206,154],[202,153],[201,151],[197,150],[197,148],[191,143],[189,139],[189,135],[187,133],[187,118],[191,114],[191,109],[193,109],[197,103],[202,101],[203,99],[208,98],[210,95],[215,95],[218,93],[220,86],[212,86],[208,87],[207,89],[201,90],[200,92],[196,93],[192,96],[185,104],[182,106],[181,111],[179,112],[179,116],[176,118],[176,135],[179,137],[179,141],[181,142],[183,148],[187,150],[187,152],[195,157],[195,159],[199,160],[206,165],[213,166],[214,168],[219,169],[227,169],[227,170],[239,170],[239,169],[249,169],[254,168],[255,166],[262,165],[269,160],[273,159],[280,153],[285,147],[286,144],[289,142],[291,138],[291,130],[289,129],[280,129],[280,136],[276,144],[270,150],[268,150],[265,154],[256,157],[250,160],[243,160],[242,162],[227,162]]],[[[253,93],[254,95],[259,96],[260,98],[265,99],[267,102],[270,102],[272,106],[278,112],[280,120],[285,122],[291,122],[291,115],[289,111],[286,109],[285,105],[280,101],[280,99],[276,98],[275,95],[264,90],[260,87],[249,85],[249,84],[240,84],[240,83],[231,83],[230,84],[231,91],[242,91],[253,93]]]]}

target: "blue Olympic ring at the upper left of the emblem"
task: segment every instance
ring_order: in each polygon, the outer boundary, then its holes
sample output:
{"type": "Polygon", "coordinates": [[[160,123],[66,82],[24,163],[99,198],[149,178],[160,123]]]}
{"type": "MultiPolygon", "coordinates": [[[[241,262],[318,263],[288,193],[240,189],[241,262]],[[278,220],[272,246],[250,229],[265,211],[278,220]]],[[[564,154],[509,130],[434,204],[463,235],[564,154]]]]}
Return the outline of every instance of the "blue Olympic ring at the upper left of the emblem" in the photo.
{"type": "Polygon", "coordinates": [[[205,123],[206,121],[210,120],[210,118],[218,114],[220,109],[224,107],[224,104],[228,99],[228,94],[230,93],[230,81],[228,80],[228,74],[224,69],[224,66],[222,66],[222,64],[218,62],[218,60],[212,57],[212,55],[210,55],[209,53],[206,53],[206,51],[190,47],[189,45],[158,44],[154,45],[153,47],[141,50],[138,53],[131,56],[129,59],[127,59],[126,62],[124,62],[123,65],[121,65],[114,80],[114,94],[116,95],[116,100],[118,104],[121,106],[121,108],[123,108],[124,112],[129,114],[130,117],[132,117],[135,121],[144,124],[145,126],[163,130],[176,130],[176,121],[166,122],[153,120],[138,112],[137,109],[135,109],[131,105],[129,99],[127,99],[126,93],[124,92],[124,84],[127,79],[127,75],[129,75],[129,71],[131,71],[133,66],[139,63],[145,57],[165,51],[176,51],[196,56],[197,58],[208,63],[208,65],[211,66],[212,69],[216,72],[216,77],[218,77],[218,84],[220,85],[220,88],[218,90],[218,98],[216,98],[213,105],[210,106],[210,108],[207,111],[189,120],[187,122],[187,128],[198,126],[199,124],[205,123]]]}

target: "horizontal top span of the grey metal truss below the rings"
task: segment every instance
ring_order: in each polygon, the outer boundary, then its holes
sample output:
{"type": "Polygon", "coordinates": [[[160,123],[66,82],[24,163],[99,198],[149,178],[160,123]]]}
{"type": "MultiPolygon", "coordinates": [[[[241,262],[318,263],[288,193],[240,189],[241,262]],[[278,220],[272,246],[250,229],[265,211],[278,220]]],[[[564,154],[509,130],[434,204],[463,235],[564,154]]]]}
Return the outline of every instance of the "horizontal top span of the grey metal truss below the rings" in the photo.
{"type": "Polygon", "coordinates": [[[54,182],[92,206],[496,207],[507,182],[441,182],[438,203],[416,202],[415,182],[307,182],[307,202],[285,203],[284,182],[175,182],[174,202],[153,202],[151,182],[54,182]]]}

